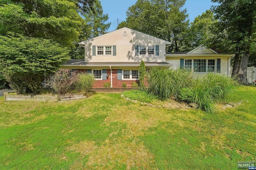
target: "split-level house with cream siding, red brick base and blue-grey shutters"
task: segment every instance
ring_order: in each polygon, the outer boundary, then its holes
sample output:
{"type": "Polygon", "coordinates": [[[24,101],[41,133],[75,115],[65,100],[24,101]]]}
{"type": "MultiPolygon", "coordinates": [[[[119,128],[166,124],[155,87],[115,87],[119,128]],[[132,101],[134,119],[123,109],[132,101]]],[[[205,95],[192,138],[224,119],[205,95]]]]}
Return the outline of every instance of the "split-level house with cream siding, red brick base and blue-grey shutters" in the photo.
{"type": "Polygon", "coordinates": [[[166,54],[172,43],[123,27],[115,31],[82,41],[84,59],[71,59],[63,68],[94,74],[94,88],[102,88],[109,82],[112,88],[121,88],[122,83],[131,87],[139,84],[139,66],[143,60],[146,68],[183,67],[195,69],[196,74],[220,72],[230,76],[230,57],[220,55],[203,45],[188,53],[166,54]]]}

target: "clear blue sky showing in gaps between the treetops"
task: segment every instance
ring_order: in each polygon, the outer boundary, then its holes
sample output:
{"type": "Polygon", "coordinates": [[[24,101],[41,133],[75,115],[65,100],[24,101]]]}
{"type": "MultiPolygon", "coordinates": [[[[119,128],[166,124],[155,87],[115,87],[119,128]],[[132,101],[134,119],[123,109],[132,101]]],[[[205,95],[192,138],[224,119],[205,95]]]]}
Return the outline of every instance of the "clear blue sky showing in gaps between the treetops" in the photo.
{"type": "MultiPolygon", "coordinates": [[[[104,14],[108,14],[108,22],[112,23],[108,31],[113,31],[116,29],[117,19],[125,21],[128,7],[134,5],[137,0],[100,0],[100,2],[104,14]]],[[[186,0],[184,8],[187,8],[188,18],[192,22],[196,16],[210,9],[212,5],[216,5],[216,3],[211,0],[186,0]]]]}

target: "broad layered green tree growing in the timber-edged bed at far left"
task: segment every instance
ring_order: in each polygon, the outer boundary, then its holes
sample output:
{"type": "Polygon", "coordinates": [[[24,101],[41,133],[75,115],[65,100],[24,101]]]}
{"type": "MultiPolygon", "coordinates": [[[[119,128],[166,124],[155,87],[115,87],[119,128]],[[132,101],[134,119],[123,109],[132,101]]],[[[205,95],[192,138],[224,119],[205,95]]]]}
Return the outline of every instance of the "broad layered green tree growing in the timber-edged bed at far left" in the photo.
{"type": "Polygon", "coordinates": [[[45,76],[68,59],[68,49],[51,40],[14,33],[0,36],[0,66],[4,74],[14,83],[24,82],[34,94],[41,92],[45,76]]]}

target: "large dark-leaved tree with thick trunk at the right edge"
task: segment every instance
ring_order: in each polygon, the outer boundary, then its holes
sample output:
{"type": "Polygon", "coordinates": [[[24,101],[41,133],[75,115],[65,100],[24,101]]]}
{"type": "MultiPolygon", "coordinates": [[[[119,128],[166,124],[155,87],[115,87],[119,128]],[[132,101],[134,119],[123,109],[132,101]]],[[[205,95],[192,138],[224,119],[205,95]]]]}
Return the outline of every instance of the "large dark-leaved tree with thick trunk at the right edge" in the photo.
{"type": "Polygon", "coordinates": [[[212,10],[216,14],[216,28],[228,39],[235,59],[232,76],[236,76],[242,84],[248,84],[247,65],[252,42],[253,23],[256,16],[256,2],[254,0],[212,0],[218,2],[212,10]]]}

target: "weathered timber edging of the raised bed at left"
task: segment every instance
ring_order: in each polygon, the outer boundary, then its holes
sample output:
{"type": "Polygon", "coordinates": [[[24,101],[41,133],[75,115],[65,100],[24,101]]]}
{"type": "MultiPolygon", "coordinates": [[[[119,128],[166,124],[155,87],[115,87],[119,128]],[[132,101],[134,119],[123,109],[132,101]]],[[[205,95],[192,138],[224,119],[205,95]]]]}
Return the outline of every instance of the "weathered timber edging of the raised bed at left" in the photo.
{"type": "Polygon", "coordinates": [[[76,100],[82,98],[88,98],[95,94],[95,91],[87,92],[85,94],[64,94],[64,95],[30,95],[30,94],[9,94],[9,92],[4,93],[4,101],[34,101],[34,102],[63,102],[68,100],[76,100]]]}

